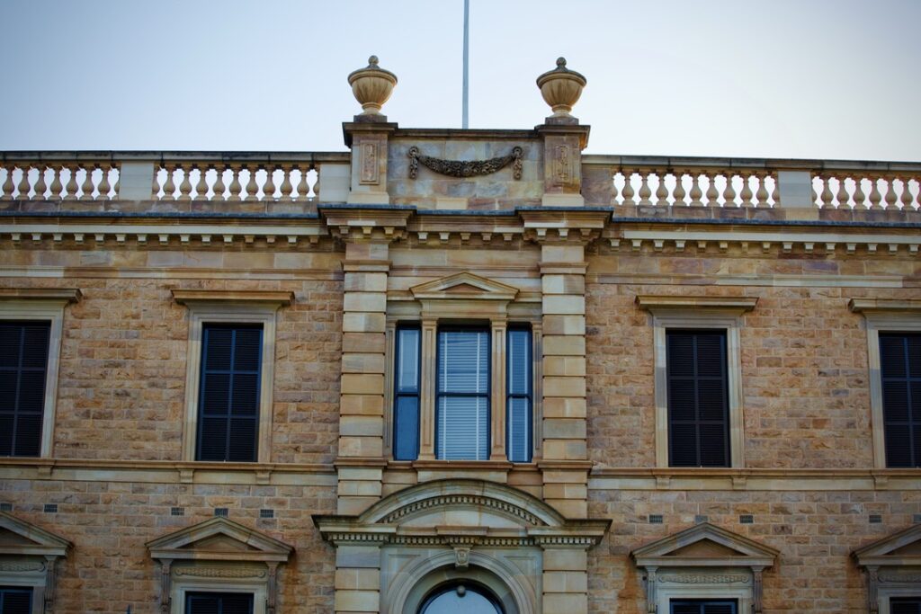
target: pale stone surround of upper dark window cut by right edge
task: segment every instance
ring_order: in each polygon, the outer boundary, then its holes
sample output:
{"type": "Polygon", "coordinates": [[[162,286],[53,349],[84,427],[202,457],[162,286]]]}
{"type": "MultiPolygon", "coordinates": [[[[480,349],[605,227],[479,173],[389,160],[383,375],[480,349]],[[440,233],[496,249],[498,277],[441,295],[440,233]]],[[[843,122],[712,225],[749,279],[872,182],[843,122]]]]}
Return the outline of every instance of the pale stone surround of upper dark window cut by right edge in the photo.
{"type": "Polygon", "coordinates": [[[880,332],[921,332],[921,300],[852,298],[847,307],[863,314],[867,324],[870,429],[873,438],[873,466],[886,469],[886,432],[882,406],[880,332]]]}

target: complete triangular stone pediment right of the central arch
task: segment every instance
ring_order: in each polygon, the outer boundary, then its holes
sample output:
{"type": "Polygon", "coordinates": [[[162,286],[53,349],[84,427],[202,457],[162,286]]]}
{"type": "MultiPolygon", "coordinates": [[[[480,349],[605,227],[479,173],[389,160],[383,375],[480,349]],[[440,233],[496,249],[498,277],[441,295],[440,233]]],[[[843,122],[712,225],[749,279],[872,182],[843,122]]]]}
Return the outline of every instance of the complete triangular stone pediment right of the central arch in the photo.
{"type": "Polygon", "coordinates": [[[725,528],[702,523],[630,553],[641,567],[769,567],[777,550],[725,528]]]}

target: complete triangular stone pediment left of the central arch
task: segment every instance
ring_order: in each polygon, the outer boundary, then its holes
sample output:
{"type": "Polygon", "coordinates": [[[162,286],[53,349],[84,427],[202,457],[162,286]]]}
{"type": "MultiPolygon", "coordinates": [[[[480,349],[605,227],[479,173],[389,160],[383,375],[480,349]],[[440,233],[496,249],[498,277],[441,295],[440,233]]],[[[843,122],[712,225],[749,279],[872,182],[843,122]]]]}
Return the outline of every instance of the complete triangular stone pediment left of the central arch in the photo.
{"type": "Polygon", "coordinates": [[[147,542],[155,559],[286,562],[293,547],[224,517],[147,542]]]}

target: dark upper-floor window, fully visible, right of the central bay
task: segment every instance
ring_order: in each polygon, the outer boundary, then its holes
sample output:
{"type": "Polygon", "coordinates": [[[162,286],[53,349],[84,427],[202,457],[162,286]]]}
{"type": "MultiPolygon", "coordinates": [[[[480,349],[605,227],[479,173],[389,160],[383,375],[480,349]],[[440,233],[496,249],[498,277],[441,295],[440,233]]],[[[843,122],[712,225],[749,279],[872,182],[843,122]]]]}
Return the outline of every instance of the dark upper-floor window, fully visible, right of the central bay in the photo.
{"type": "Polygon", "coordinates": [[[669,464],[729,467],[724,330],[667,330],[669,464]]]}

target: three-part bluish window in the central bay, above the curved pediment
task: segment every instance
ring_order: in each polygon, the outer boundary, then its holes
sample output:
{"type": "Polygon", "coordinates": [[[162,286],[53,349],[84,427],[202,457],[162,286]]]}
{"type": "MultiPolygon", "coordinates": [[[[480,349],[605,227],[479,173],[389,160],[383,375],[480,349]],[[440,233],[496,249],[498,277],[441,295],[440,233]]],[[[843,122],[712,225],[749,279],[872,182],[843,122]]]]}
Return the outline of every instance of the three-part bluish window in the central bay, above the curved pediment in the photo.
{"type": "MultiPolygon", "coordinates": [[[[505,420],[507,458],[533,456],[533,356],[529,328],[507,330],[505,420]]],[[[495,377],[490,330],[443,327],[437,330],[435,457],[486,460],[491,447],[491,402],[495,377]]],[[[393,365],[393,458],[419,457],[422,330],[395,330],[393,365]]],[[[501,416],[500,416],[501,418],[501,416]]]]}

